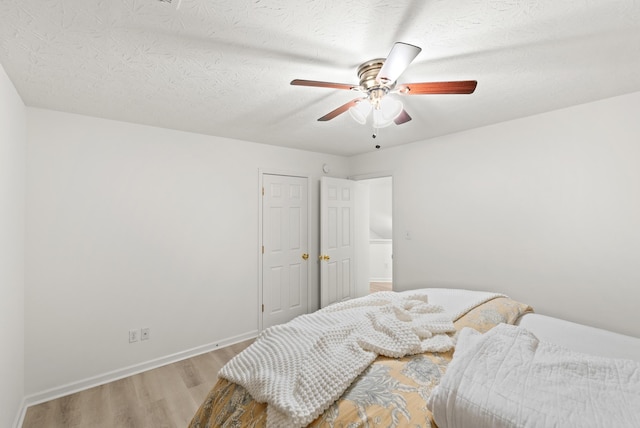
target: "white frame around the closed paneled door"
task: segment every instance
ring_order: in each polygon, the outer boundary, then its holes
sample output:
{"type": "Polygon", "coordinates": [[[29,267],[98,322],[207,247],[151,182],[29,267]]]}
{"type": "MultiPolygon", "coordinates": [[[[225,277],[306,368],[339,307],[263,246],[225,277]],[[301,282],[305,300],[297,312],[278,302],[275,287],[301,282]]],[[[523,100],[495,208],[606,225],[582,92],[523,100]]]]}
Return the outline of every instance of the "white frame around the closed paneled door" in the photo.
{"type": "MultiPolygon", "coordinates": [[[[309,246],[309,263],[312,260],[316,259],[316,255],[311,252],[311,176],[304,173],[297,173],[292,171],[283,171],[279,169],[271,169],[271,168],[259,168],[258,169],[258,246],[257,246],[257,257],[258,257],[258,304],[257,304],[257,312],[258,312],[258,332],[262,331],[262,302],[263,302],[263,293],[262,293],[262,246],[264,242],[262,241],[262,222],[264,220],[264,213],[262,209],[262,189],[264,188],[264,176],[265,175],[281,175],[285,177],[298,177],[304,178],[307,186],[307,245],[309,246]]],[[[309,312],[309,308],[311,307],[311,264],[307,269],[307,312],[309,312]]]]}

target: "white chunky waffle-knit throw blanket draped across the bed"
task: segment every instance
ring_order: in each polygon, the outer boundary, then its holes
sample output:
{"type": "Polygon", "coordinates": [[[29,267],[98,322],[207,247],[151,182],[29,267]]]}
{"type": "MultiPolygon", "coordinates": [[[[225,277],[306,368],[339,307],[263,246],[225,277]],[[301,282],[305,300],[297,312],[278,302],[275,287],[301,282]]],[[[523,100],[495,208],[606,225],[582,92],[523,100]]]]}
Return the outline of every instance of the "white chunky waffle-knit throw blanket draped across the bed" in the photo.
{"type": "MultiPolygon", "coordinates": [[[[477,302],[495,296],[481,293],[477,302]]],[[[453,331],[452,312],[429,304],[427,291],[380,292],[263,331],[219,376],[267,403],[268,427],[304,426],[378,355],[447,351],[453,331]]]]}

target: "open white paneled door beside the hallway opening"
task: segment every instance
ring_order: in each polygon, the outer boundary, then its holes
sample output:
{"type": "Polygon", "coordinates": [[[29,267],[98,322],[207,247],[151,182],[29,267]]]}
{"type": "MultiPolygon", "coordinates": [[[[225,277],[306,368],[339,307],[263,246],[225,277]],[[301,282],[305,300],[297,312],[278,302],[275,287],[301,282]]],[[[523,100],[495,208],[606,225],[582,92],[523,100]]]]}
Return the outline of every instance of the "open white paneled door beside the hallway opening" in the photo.
{"type": "Polygon", "coordinates": [[[355,207],[352,180],[320,179],[320,307],[356,297],[355,207]]]}

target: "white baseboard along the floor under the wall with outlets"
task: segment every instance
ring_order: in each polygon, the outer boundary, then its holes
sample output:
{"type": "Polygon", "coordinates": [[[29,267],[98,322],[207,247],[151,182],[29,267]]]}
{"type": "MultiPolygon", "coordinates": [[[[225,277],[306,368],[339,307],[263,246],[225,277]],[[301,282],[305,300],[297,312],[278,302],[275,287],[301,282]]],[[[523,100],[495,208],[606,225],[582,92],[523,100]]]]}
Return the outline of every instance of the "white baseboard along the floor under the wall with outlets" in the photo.
{"type": "Polygon", "coordinates": [[[210,343],[207,345],[198,346],[186,351],[180,351],[166,357],[156,358],[144,363],[135,364],[122,369],[113,370],[101,375],[92,376],[87,379],[79,380],[77,382],[71,382],[66,385],[51,388],[46,391],[38,392],[36,394],[28,395],[23,400],[22,415],[18,416],[17,421],[20,425],[16,425],[16,428],[22,426],[22,420],[24,414],[29,406],[44,403],[45,401],[54,400],[56,398],[64,397],[65,395],[73,394],[75,392],[83,391],[85,389],[93,388],[95,386],[104,385],[105,383],[113,382],[125,377],[133,376],[138,373],[145,372],[147,370],[155,369],[158,367],[166,366],[177,361],[186,360],[187,358],[195,357],[196,355],[204,354],[216,349],[222,349],[227,346],[234,345],[236,343],[244,342],[245,340],[254,339],[258,336],[258,331],[251,331],[238,336],[230,337],[218,342],[210,343]]]}

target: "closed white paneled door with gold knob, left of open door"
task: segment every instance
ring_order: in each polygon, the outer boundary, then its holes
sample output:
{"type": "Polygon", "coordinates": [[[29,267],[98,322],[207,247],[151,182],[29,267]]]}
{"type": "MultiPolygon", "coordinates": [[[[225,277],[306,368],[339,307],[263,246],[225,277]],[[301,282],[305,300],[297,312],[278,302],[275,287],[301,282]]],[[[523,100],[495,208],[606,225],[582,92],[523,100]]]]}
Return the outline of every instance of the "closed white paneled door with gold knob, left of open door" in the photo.
{"type": "Polygon", "coordinates": [[[308,210],[307,178],[263,175],[263,329],[307,313],[308,210]]]}

